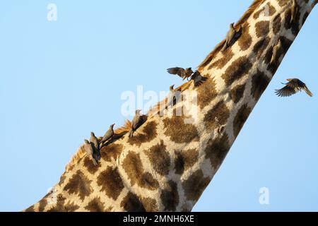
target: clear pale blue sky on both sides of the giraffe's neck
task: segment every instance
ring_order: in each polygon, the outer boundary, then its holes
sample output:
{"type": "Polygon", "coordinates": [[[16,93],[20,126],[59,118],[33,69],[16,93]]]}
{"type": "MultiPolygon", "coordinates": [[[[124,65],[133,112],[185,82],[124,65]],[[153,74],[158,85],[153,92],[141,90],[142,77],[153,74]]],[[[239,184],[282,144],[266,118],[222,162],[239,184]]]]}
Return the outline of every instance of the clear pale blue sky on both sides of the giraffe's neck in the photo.
{"type": "MultiPolygon", "coordinates": [[[[122,92],[179,84],[165,69],[197,66],[251,2],[2,2],[0,210],[42,198],[90,131],[122,124],[122,92]]],[[[318,210],[317,21],[316,8],[194,210],[318,210]],[[289,77],[314,97],[276,97],[289,77]]]]}

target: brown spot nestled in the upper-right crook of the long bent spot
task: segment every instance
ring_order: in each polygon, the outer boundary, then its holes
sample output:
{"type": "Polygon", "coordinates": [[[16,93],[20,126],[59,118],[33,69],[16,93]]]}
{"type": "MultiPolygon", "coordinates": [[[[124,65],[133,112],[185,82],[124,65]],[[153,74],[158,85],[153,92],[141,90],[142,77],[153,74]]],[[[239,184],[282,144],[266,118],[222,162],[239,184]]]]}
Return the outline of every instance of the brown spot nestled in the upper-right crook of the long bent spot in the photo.
{"type": "Polygon", "coordinates": [[[165,176],[169,173],[170,167],[170,156],[165,151],[166,148],[167,147],[161,140],[157,145],[154,145],[149,150],[144,151],[151,161],[151,165],[153,166],[153,169],[155,169],[155,172],[158,172],[158,174],[162,176],[165,176]]]}

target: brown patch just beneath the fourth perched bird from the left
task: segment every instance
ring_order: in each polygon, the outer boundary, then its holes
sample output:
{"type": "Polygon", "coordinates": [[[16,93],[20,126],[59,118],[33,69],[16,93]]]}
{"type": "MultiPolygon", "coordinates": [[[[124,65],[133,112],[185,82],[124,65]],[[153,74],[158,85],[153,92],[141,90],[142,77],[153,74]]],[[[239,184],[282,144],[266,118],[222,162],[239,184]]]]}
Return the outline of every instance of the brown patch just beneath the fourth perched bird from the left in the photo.
{"type": "Polygon", "coordinates": [[[157,123],[155,121],[148,121],[146,126],[143,126],[142,131],[137,130],[134,137],[130,138],[127,142],[131,145],[140,146],[142,143],[152,141],[157,136],[157,123]]]}

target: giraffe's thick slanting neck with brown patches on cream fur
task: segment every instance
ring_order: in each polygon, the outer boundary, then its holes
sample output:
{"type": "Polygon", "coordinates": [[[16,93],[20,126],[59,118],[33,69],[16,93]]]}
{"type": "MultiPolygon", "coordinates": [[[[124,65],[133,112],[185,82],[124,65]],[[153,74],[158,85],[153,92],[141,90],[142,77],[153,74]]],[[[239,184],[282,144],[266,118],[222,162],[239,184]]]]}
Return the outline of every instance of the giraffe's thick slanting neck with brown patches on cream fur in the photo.
{"type": "Polygon", "coordinates": [[[220,52],[221,42],[198,68],[208,80],[189,87],[198,94],[193,124],[185,116],[151,117],[134,138],[102,148],[98,167],[79,159],[27,210],[192,210],[317,1],[297,3],[290,24],[292,1],[254,1],[235,25],[242,25],[237,42],[220,52]]]}

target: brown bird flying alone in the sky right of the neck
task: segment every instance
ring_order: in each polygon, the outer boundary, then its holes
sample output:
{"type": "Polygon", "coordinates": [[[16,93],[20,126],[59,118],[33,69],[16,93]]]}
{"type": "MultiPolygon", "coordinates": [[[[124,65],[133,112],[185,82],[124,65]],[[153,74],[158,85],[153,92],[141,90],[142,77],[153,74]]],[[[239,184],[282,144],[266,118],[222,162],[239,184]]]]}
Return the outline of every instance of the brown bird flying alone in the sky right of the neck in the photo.
{"type": "Polygon", "coordinates": [[[289,78],[286,80],[288,81],[288,83],[283,83],[285,87],[275,91],[278,97],[289,97],[295,93],[298,93],[301,90],[305,90],[307,95],[312,97],[312,92],[310,92],[306,84],[300,81],[298,78],[289,78]]]}

